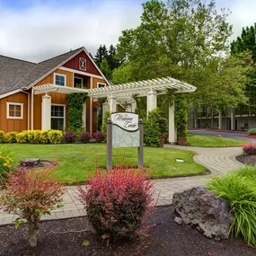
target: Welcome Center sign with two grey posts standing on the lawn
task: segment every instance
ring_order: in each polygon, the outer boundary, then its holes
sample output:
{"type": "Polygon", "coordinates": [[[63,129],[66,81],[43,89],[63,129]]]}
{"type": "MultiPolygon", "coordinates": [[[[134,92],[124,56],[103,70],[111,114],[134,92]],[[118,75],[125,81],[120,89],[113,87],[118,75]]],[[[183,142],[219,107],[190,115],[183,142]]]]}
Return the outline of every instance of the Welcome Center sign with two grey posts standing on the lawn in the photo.
{"type": "Polygon", "coordinates": [[[137,147],[137,166],[143,167],[143,121],[130,112],[112,113],[107,120],[107,168],[112,169],[113,147],[137,147]]]}

